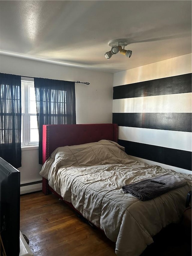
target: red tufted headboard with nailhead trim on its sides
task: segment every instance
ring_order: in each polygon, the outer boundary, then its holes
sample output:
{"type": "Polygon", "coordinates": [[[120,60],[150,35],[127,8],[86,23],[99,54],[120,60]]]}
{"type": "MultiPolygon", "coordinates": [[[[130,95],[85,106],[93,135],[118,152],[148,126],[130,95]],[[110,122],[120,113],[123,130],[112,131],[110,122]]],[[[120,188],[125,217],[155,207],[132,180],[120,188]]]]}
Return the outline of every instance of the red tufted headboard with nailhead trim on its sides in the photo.
{"type": "Polygon", "coordinates": [[[117,139],[117,124],[43,125],[43,163],[61,146],[117,139]]]}

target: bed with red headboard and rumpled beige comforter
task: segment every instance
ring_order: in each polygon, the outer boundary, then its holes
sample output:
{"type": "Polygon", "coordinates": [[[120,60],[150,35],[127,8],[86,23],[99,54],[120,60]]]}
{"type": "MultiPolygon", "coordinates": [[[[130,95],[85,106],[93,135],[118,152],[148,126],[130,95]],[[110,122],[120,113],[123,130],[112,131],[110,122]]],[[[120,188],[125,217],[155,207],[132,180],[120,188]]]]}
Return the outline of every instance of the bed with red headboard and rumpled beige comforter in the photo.
{"type": "Polygon", "coordinates": [[[116,124],[44,125],[43,192],[57,194],[103,230],[116,242],[117,255],[137,256],[163,227],[179,222],[191,177],[135,161],[117,139],[116,124]],[[147,201],[122,190],[166,173],[186,185],[147,201]]]}

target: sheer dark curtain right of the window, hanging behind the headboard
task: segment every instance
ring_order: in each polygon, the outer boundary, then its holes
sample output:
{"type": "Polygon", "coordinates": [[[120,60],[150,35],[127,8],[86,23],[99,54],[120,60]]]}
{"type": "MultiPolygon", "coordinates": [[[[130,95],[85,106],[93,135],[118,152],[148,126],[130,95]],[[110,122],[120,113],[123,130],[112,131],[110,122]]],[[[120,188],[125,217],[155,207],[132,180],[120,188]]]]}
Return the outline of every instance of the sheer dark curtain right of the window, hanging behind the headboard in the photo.
{"type": "Polygon", "coordinates": [[[43,125],[76,124],[75,83],[34,78],[39,130],[39,163],[42,164],[43,125]]]}

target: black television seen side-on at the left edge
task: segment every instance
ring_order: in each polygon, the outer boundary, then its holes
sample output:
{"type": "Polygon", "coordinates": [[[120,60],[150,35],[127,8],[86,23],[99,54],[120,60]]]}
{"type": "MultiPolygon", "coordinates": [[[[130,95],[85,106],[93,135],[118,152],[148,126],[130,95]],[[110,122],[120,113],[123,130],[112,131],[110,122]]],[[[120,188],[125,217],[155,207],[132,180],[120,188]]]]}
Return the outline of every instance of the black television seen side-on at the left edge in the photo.
{"type": "Polygon", "coordinates": [[[0,235],[7,256],[20,252],[20,172],[0,157],[0,235]]]}

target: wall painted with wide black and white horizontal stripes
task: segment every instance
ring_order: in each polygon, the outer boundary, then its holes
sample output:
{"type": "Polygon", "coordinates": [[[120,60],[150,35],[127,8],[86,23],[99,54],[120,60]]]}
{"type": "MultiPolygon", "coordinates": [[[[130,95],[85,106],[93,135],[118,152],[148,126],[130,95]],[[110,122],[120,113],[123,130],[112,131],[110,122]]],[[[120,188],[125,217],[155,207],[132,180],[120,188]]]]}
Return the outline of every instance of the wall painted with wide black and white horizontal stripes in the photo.
{"type": "Polygon", "coordinates": [[[113,87],[113,123],[126,153],[191,173],[191,73],[113,87]]]}

